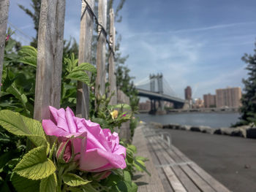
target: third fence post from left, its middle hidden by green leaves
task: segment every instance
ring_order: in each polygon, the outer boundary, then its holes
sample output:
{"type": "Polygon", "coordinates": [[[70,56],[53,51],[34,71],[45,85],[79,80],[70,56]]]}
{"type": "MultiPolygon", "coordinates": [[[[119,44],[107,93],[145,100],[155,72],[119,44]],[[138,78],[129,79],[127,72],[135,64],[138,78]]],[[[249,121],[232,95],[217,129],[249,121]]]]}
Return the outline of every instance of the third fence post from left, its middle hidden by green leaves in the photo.
{"type": "MultiPolygon", "coordinates": [[[[94,8],[94,0],[87,0],[91,9],[94,8]]],[[[80,20],[80,39],[78,64],[91,63],[91,43],[94,29],[94,18],[86,3],[82,1],[82,11],[80,20]]],[[[91,74],[88,72],[89,77],[91,74]]],[[[80,118],[89,118],[89,87],[78,81],[76,115],[80,118]]]]}

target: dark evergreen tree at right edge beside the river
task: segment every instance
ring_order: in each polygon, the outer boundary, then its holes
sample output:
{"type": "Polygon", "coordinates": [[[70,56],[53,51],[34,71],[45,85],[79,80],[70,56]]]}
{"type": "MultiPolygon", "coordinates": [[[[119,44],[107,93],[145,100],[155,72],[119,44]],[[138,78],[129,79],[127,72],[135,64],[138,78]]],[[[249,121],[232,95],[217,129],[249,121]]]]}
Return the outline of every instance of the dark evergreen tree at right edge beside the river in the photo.
{"type": "MultiPolygon", "coordinates": [[[[256,43],[255,43],[256,47],[256,43]]],[[[242,60],[247,64],[248,78],[243,79],[244,93],[241,98],[241,118],[238,124],[256,123],[256,49],[253,55],[244,54],[242,60]]]]}

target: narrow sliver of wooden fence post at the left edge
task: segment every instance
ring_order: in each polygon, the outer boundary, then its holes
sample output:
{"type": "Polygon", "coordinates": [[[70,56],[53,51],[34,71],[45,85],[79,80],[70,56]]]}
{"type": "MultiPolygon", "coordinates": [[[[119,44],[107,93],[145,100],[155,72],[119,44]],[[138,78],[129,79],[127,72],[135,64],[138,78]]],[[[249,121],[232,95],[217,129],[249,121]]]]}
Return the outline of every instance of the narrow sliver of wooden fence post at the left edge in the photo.
{"type": "MultiPolygon", "coordinates": [[[[7,20],[9,12],[9,0],[0,1],[0,91],[1,91],[1,74],[4,66],[4,46],[7,32],[7,20]]],[[[1,96],[1,94],[0,94],[1,96]]]]}

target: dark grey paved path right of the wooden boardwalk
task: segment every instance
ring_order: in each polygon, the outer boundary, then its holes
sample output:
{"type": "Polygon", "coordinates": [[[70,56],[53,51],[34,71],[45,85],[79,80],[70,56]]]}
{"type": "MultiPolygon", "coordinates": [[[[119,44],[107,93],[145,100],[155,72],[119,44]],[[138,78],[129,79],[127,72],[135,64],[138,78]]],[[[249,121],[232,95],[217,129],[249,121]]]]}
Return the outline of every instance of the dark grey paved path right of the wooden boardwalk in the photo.
{"type": "Polygon", "coordinates": [[[230,191],[256,191],[256,139],[165,130],[173,145],[230,191]]]}

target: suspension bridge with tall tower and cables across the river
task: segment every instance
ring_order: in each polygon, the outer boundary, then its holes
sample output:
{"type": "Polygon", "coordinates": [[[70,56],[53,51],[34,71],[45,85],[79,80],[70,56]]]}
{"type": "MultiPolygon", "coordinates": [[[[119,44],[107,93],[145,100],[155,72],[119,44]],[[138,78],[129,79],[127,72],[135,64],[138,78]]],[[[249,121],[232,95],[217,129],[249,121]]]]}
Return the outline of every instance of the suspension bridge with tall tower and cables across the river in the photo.
{"type": "Polygon", "coordinates": [[[150,99],[150,113],[165,111],[164,101],[173,103],[173,108],[175,109],[180,109],[184,106],[185,100],[176,95],[162,74],[150,74],[149,78],[146,77],[140,80],[140,82],[135,83],[135,87],[139,96],[150,99]]]}

